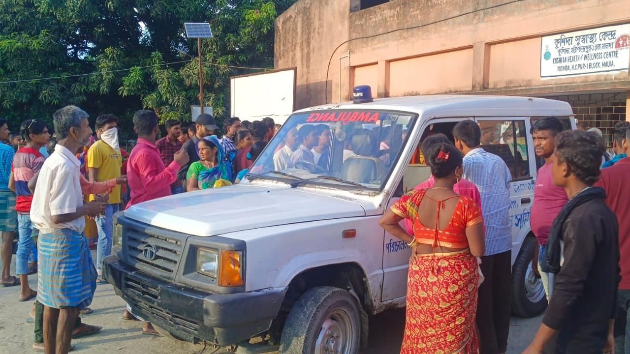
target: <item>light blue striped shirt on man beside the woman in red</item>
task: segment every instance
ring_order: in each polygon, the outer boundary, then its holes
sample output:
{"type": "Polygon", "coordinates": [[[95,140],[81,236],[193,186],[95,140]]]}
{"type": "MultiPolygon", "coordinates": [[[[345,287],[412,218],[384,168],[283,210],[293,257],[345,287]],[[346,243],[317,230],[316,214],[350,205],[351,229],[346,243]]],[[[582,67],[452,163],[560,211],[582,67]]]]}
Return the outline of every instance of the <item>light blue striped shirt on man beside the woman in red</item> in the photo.
{"type": "Polygon", "coordinates": [[[484,256],[510,251],[510,169],[501,157],[481,147],[469,151],[464,156],[463,164],[463,178],[473,182],[481,195],[481,210],[486,226],[484,256]]]}

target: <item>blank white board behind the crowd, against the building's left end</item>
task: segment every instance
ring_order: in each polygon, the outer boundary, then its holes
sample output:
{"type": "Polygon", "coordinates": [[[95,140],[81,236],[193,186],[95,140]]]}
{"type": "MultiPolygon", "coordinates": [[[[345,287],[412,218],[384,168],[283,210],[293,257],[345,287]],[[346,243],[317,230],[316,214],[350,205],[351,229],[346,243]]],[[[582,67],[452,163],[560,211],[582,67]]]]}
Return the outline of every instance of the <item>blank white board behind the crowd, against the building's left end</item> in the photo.
{"type": "Polygon", "coordinates": [[[231,77],[230,88],[231,116],[241,121],[284,124],[295,110],[295,68],[231,77]]]}

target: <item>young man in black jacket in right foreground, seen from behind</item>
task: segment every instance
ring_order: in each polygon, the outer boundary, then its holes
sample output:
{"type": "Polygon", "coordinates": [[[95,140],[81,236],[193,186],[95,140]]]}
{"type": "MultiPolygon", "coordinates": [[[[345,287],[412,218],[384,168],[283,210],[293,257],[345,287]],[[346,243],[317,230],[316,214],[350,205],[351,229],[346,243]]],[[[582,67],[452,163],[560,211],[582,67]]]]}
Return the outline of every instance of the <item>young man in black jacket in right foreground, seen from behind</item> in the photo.
{"type": "Polygon", "coordinates": [[[556,138],[554,185],[569,202],[549,233],[543,270],[556,274],[549,307],[524,353],[612,353],[619,284],[619,227],[593,187],[604,144],[593,134],[565,131],[556,138]]]}

